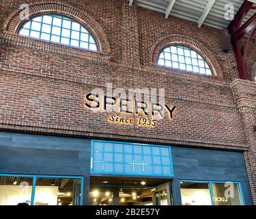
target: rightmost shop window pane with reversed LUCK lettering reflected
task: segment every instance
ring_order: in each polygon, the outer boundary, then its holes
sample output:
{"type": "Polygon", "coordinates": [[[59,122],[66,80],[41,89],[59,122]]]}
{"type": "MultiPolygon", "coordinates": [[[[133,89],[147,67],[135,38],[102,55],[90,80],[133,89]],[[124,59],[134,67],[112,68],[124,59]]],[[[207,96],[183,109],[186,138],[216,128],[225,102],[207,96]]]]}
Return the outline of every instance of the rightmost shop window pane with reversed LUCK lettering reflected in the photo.
{"type": "Polygon", "coordinates": [[[214,205],[242,205],[238,183],[212,183],[214,205]]]}

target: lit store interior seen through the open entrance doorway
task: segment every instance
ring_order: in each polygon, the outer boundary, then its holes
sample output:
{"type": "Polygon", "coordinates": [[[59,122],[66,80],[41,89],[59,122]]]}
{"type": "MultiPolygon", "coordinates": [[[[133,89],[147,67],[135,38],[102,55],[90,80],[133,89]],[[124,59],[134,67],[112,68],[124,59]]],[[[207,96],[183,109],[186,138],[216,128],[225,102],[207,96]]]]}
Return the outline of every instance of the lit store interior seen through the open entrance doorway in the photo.
{"type": "Polygon", "coordinates": [[[169,179],[91,177],[90,205],[168,205],[169,179]]]}

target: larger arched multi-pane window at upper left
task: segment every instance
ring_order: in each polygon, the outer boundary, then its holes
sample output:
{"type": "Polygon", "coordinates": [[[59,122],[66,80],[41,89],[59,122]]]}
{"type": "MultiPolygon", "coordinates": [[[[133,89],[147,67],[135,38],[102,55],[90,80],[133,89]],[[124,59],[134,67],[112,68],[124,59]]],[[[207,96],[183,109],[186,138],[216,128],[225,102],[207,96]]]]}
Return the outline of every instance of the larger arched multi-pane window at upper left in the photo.
{"type": "Polygon", "coordinates": [[[96,40],[83,25],[58,14],[35,16],[23,23],[18,34],[81,49],[98,50],[96,40]]]}

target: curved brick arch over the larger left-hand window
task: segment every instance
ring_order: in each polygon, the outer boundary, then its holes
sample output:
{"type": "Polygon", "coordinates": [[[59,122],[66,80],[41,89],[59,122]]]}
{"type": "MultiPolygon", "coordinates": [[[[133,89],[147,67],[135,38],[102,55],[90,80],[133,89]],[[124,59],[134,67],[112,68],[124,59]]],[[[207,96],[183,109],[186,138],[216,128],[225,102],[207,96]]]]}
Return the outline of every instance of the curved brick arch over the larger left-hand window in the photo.
{"type": "MultiPolygon", "coordinates": [[[[20,13],[23,13],[23,10],[18,9],[14,10],[12,14],[8,17],[3,25],[4,31],[14,34],[20,28],[20,25],[24,21],[20,20],[20,13]]],[[[29,13],[28,18],[36,16],[38,14],[60,14],[63,16],[68,16],[77,22],[81,23],[88,31],[94,36],[98,44],[98,51],[103,53],[111,53],[111,47],[109,40],[104,33],[104,30],[96,21],[94,21],[91,16],[87,13],[74,8],[66,3],[56,2],[56,1],[40,1],[36,3],[29,4],[29,13]]]]}

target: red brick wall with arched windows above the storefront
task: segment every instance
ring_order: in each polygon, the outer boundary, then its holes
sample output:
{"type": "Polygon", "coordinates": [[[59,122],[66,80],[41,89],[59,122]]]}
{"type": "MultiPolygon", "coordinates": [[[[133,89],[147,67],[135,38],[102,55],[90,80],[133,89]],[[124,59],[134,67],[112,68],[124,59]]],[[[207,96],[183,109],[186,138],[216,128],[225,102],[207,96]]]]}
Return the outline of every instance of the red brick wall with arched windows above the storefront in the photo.
{"type": "Polygon", "coordinates": [[[256,201],[255,133],[250,129],[256,123],[255,84],[238,80],[233,51],[221,49],[224,31],[165,19],[125,0],[3,0],[0,10],[0,129],[244,151],[256,201]],[[96,36],[101,51],[18,36],[20,3],[29,3],[31,14],[76,18],[96,36]],[[156,66],[159,51],[173,42],[197,49],[216,75],[156,66]],[[83,105],[87,92],[109,82],[113,88],[165,88],[167,104],[177,106],[175,117],[150,129],[108,123],[109,113],[91,113],[83,105]]]}

